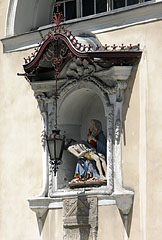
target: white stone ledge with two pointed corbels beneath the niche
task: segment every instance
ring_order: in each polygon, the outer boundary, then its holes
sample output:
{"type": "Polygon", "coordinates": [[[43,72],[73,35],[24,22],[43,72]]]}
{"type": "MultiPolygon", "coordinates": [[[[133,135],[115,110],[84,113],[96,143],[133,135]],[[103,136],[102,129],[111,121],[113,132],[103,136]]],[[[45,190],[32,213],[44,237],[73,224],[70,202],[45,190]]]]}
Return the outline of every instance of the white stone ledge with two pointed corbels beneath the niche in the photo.
{"type": "Polygon", "coordinates": [[[78,194],[76,192],[75,196],[64,195],[62,198],[50,198],[50,197],[35,197],[28,199],[29,207],[32,211],[36,213],[39,232],[41,234],[48,210],[63,209],[63,202],[67,199],[73,199],[79,197],[97,198],[97,206],[108,206],[116,205],[119,211],[124,216],[124,226],[126,231],[128,231],[128,215],[133,206],[134,192],[121,189],[118,192],[114,192],[112,195],[102,195],[98,192],[97,195],[89,195],[88,193],[78,194]]]}

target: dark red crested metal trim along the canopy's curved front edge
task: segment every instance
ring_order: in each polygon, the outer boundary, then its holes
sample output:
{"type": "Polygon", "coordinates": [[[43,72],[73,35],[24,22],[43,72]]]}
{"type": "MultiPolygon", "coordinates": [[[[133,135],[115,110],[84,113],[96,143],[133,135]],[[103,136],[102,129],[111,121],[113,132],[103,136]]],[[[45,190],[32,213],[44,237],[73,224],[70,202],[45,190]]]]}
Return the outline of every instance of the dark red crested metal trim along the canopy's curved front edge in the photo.
{"type": "Polygon", "coordinates": [[[113,46],[105,45],[105,47],[96,46],[96,49],[93,50],[93,47],[90,45],[85,46],[78,43],[76,37],[69,30],[64,28],[64,26],[57,25],[54,27],[54,30],[49,31],[48,35],[42,40],[39,50],[36,49],[35,53],[33,53],[31,57],[25,59],[26,64],[23,65],[25,72],[31,72],[35,67],[39,67],[38,62],[40,61],[48,45],[52,41],[57,41],[58,39],[64,41],[72,54],[80,58],[103,58],[103,60],[129,58],[133,60],[134,58],[140,58],[142,54],[142,52],[138,50],[138,45],[132,46],[131,44],[127,47],[124,45],[116,46],[115,44],[113,46]],[[99,51],[100,48],[103,50],[99,51]],[[133,48],[137,50],[133,50],[133,48]]]}

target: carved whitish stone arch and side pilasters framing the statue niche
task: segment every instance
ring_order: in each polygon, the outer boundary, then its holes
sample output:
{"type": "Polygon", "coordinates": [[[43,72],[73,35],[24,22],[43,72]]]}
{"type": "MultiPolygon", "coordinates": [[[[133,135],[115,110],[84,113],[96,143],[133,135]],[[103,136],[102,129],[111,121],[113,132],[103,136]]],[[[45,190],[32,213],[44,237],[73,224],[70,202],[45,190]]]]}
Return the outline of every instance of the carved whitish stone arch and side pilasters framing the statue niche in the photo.
{"type": "MultiPolygon", "coordinates": [[[[80,59],[77,61],[80,61],[80,59]]],[[[76,63],[74,62],[72,64],[74,65],[76,63]]],[[[82,68],[80,71],[87,71],[87,67],[84,67],[84,64],[79,65],[82,68]]],[[[73,66],[73,68],[74,67],[77,66],[73,66]]],[[[97,75],[94,76],[94,74],[98,74],[95,70],[96,66],[90,66],[88,69],[90,69],[90,72],[88,70],[88,75],[83,74],[81,79],[75,79],[73,72],[70,70],[71,75],[69,75],[69,77],[73,77],[73,79],[62,81],[62,84],[58,87],[58,109],[61,109],[62,103],[66,101],[66,98],[72,92],[81,88],[91,89],[100,97],[105,109],[105,116],[107,117],[107,192],[108,194],[112,194],[114,189],[122,187],[122,159],[120,142],[122,116],[119,112],[122,112],[122,99],[124,96],[123,88],[125,89],[127,86],[127,79],[131,74],[132,66],[114,66],[110,69],[103,70],[104,72],[106,71],[108,75],[107,81],[105,80],[105,73],[103,74],[104,80],[101,80],[102,74],[100,74],[100,79],[98,79],[97,75]],[[114,82],[114,87],[110,87],[109,79],[112,79],[111,83],[112,81],[114,82]]],[[[100,70],[99,73],[101,72],[102,71],[100,70]]],[[[78,74],[77,71],[75,73],[78,74]]],[[[47,133],[51,133],[55,121],[53,114],[55,110],[55,101],[52,95],[55,84],[51,85],[51,82],[49,82],[48,86],[48,82],[41,84],[31,83],[31,86],[38,101],[44,125],[42,130],[42,144],[44,154],[43,165],[44,169],[46,169],[46,173],[44,173],[45,177],[43,185],[46,186],[46,191],[42,192],[43,194],[46,192],[46,195],[54,197],[55,192],[57,192],[57,178],[53,176],[53,172],[49,164],[47,146],[45,145],[45,135],[47,133]],[[44,91],[42,91],[43,86],[45,86],[44,91]]],[[[43,194],[39,196],[43,197],[43,194]]]]}

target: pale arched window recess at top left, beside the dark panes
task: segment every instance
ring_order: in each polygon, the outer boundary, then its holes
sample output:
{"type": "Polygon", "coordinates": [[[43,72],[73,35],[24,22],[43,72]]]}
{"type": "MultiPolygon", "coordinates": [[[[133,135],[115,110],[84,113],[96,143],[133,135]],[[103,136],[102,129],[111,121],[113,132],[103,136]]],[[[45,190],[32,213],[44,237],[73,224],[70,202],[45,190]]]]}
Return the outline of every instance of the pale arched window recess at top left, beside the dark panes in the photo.
{"type": "Polygon", "coordinates": [[[50,24],[54,0],[10,0],[6,36],[22,34],[50,24]]]}

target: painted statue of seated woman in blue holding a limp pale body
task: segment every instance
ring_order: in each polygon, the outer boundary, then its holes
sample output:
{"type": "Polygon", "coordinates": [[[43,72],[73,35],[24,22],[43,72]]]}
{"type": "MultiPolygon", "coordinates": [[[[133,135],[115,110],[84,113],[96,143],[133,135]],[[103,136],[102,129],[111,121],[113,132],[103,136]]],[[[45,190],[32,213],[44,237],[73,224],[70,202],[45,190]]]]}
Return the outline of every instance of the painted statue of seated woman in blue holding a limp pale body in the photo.
{"type": "Polygon", "coordinates": [[[70,183],[106,178],[106,138],[102,125],[96,119],[89,123],[87,142],[74,143],[68,147],[68,151],[78,158],[74,179],[70,183]]]}

